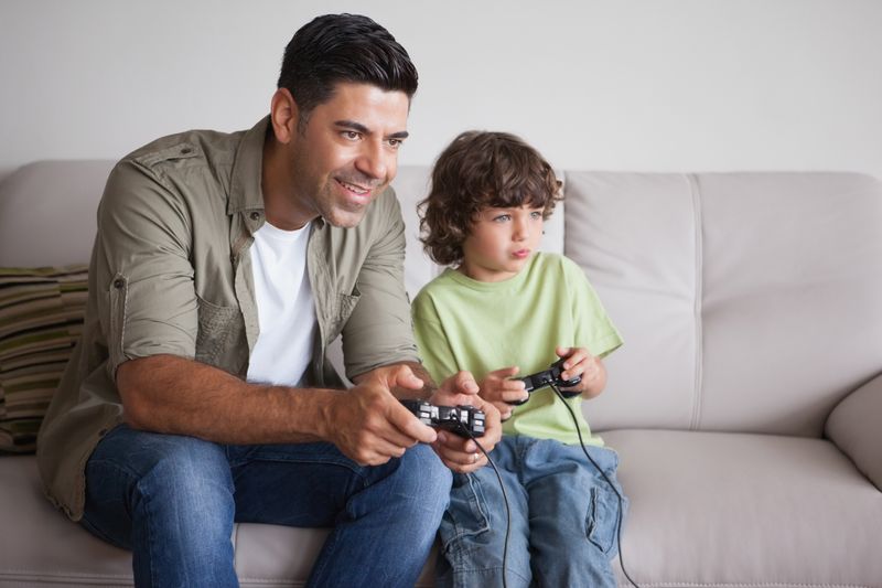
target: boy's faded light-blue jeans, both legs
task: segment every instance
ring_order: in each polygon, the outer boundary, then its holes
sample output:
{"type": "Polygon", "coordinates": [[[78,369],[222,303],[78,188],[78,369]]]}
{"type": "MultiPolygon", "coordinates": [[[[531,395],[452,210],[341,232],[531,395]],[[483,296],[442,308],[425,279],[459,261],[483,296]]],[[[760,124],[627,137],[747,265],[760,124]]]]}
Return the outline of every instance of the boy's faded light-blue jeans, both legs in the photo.
{"type": "MultiPolygon", "coordinates": [[[[601,447],[588,447],[588,452],[622,493],[615,479],[616,453],[601,447]]],[[[614,588],[611,560],[619,552],[619,496],[582,448],[506,436],[491,457],[512,511],[508,587],[614,588]]],[[[626,504],[624,500],[622,510],[626,504]]],[[[450,506],[441,521],[439,585],[503,586],[505,531],[505,503],[493,468],[454,474],[450,506]]]]}

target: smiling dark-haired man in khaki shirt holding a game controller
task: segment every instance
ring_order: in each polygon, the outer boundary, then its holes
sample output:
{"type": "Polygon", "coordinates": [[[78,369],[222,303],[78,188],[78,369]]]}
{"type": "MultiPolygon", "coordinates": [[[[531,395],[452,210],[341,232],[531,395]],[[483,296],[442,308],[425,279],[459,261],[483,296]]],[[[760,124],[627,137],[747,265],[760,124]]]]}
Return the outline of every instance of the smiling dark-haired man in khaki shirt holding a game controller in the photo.
{"type": "Polygon", "coordinates": [[[55,504],[133,552],[138,586],[236,586],[234,521],[333,526],[313,586],[412,586],[444,464],[484,458],[396,396],[477,405],[498,440],[471,376],[434,389],[416,355],[387,190],[416,89],[385,29],[320,17],[286,49],[269,117],[111,172],[37,457],[55,504]],[[340,333],[349,391],[325,359],[340,333]]]}

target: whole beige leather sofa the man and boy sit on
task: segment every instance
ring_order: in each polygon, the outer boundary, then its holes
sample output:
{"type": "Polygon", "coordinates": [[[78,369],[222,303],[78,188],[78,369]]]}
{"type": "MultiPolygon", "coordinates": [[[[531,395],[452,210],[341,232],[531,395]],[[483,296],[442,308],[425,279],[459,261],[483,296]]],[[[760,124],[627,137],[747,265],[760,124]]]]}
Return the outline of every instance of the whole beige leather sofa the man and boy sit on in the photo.
{"type": "MultiPolygon", "coordinates": [[[[8,177],[0,266],[86,261],[110,165],[36,162],[8,177]]],[[[396,180],[411,295],[438,272],[416,238],[427,172],[396,180]]],[[[631,576],[654,588],[882,587],[882,184],[561,175],[567,200],[544,247],[581,264],[625,339],[584,411],[621,456],[631,576]]],[[[129,554],[52,509],[32,456],[0,457],[0,586],[130,585],[129,554]]],[[[238,525],[241,584],[302,585],[323,537],[238,525]]]]}

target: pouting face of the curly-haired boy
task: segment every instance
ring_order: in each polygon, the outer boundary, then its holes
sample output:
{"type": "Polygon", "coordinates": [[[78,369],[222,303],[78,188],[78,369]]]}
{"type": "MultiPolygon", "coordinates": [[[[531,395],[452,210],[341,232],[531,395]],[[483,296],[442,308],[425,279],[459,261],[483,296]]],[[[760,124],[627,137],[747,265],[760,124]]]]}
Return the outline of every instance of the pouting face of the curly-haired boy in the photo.
{"type": "Polygon", "coordinates": [[[478,281],[502,281],[520,271],[542,238],[542,209],[484,209],[462,244],[459,270],[478,281]]]}

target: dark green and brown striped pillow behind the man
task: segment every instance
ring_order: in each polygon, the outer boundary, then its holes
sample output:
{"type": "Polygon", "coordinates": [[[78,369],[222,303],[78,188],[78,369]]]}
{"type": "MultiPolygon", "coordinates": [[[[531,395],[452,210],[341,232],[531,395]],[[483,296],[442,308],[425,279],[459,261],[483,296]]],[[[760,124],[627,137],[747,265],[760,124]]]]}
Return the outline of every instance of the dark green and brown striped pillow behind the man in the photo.
{"type": "Polygon", "coordinates": [[[0,451],[35,449],[87,296],[88,266],[0,268],[0,451]]]}

